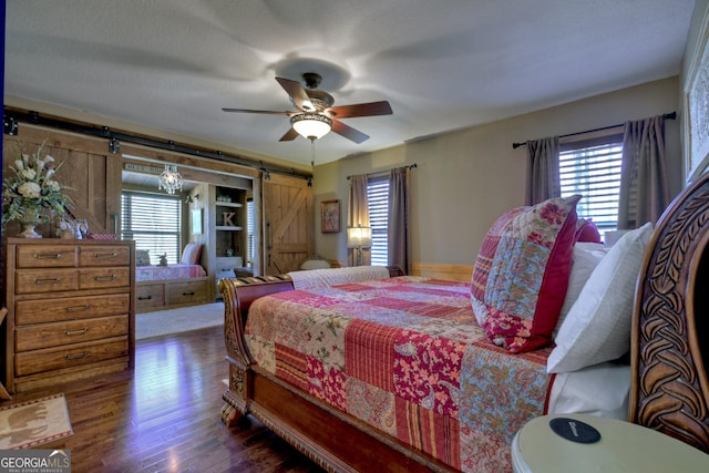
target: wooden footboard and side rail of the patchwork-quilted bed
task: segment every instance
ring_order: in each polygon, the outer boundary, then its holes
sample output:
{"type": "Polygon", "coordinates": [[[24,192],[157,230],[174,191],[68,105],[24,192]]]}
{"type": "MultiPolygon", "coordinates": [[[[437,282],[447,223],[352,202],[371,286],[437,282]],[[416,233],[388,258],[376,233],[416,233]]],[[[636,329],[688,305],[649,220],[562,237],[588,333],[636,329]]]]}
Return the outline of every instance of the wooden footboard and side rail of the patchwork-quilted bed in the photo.
{"type": "MultiPolygon", "coordinates": [[[[389,274],[403,276],[398,267],[390,267],[389,274]]],[[[258,369],[244,338],[248,309],[259,297],[292,289],[286,275],[219,282],[229,363],[222,421],[233,426],[250,414],[327,471],[451,472],[431,456],[258,369]]]]}

